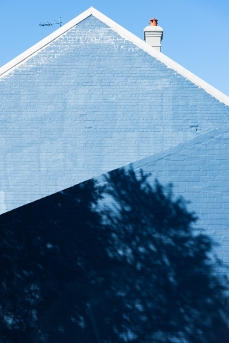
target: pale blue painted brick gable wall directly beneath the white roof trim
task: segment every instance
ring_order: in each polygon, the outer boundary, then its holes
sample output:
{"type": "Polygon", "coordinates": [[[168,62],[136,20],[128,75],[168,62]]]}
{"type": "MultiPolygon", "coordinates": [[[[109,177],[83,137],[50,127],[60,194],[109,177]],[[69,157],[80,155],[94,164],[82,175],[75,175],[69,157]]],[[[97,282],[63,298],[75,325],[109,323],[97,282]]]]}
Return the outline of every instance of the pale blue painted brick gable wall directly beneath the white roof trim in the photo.
{"type": "Polygon", "coordinates": [[[0,94],[1,213],[228,123],[228,106],[93,16],[0,94]]]}

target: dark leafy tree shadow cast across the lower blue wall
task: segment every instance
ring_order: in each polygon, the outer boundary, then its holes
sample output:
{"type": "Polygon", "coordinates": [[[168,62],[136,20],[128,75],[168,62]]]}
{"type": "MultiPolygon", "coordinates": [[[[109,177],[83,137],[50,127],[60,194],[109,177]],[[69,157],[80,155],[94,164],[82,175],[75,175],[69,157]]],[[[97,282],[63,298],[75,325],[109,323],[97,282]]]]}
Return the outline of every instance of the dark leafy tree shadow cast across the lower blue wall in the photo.
{"type": "Polygon", "coordinates": [[[228,342],[228,280],[195,221],[123,169],[2,215],[0,342],[228,342]]]}

